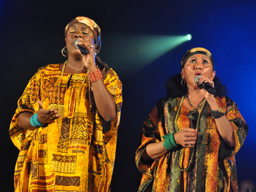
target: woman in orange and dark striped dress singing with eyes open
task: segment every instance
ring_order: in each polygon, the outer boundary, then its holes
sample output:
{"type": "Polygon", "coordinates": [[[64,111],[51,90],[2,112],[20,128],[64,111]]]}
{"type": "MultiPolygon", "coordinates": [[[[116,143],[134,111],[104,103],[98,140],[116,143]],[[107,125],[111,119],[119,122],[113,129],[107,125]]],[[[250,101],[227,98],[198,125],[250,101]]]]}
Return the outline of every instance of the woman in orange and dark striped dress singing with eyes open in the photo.
{"type": "Polygon", "coordinates": [[[143,123],[136,152],[140,192],[238,191],[235,154],[248,127],[215,73],[212,54],[197,47],[166,82],[168,96],[143,123]]]}

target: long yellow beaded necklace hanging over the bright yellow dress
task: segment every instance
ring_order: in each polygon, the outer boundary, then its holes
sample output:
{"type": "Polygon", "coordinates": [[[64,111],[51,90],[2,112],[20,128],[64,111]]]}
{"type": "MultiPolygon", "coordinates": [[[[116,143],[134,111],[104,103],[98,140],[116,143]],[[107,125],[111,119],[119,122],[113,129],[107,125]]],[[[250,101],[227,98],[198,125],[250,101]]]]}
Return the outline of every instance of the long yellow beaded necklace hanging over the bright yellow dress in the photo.
{"type": "MultiPolygon", "coordinates": [[[[61,71],[61,78],[60,78],[60,82],[59,82],[59,85],[58,85],[58,95],[57,95],[58,96],[58,100],[57,100],[58,111],[61,111],[61,107],[60,107],[61,79],[62,79],[62,76],[63,76],[63,73],[64,73],[64,68],[66,66],[66,63],[67,63],[67,61],[65,61],[64,65],[63,65],[63,68],[62,68],[62,71],[61,71]]],[[[88,76],[88,73],[87,73],[87,76],[88,76]]],[[[75,125],[76,125],[76,122],[77,122],[77,115],[78,115],[78,111],[79,111],[81,88],[83,87],[85,80],[86,80],[86,78],[84,78],[84,81],[82,82],[82,84],[81,84],[81,86],[79,88],[77,105],[76,105],[76,112],[75,112],[75,119],[73,121],[73,130],[71,132],[71,136],[68,139],[64,139],[62,137],[62,134],[61,134],[61,123],[60,123],[60,120],[57,119],[58,120],[58,131],[59,131],[59,134],[61,136],[61,139],[64,140],[64,141],[67,141],[67,140],[69,140],[70,138],[73,137],[74,130],[75,130],[75,125]]],[[[63,114],[64,114],[64,110],[63,110],[63,114]]]]}

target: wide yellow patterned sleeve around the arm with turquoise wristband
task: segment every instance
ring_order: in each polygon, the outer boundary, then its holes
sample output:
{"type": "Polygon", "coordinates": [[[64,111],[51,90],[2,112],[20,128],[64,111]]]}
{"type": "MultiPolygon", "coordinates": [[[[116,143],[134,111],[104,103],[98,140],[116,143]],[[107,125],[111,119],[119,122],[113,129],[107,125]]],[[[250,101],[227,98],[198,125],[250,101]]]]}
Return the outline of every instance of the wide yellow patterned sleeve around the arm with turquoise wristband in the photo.
{"type": "Polygon", "coordinates": [[[18,106],[14,116],[12,117],[9,136],[11,137],[15,146],[20,150],[26,143],[26,137],[32,134],[32,132],[35,130],[21,128],[18,125],[18,116],[23,112],[29,112],[33,114],[37,112],[38,105],[35,103],[38,101],[38,99],[40,100],[40,84],[43,71],[44,67],[39,69],[37,73],[35,73],[35,75],[29,80],[29,83],[27,84],[22,96],[17,102],[18,106]]]}

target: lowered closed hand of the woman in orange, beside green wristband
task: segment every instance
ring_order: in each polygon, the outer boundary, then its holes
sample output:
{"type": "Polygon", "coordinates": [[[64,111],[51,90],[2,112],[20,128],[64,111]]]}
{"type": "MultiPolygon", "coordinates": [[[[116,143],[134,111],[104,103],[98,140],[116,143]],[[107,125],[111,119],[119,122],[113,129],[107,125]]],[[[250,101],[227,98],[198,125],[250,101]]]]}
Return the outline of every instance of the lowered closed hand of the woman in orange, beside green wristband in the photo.
{"type": "Polygon", "coordinates": [[[194,147],[197,139],[197,131],[197,129],[193,128],[183,128],[173,135],[175,142],[183,147],[192,148],[194,147]]]}

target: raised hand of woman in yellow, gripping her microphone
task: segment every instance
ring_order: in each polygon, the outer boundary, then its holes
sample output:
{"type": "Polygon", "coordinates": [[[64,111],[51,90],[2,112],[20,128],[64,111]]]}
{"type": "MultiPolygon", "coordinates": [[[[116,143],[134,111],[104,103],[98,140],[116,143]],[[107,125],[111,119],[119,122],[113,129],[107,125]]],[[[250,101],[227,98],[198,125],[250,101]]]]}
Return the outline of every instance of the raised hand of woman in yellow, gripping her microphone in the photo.
{"type": "MultiPolygon", "coordinates": [[[[81,53],[81,57],[83,59],[84,66],[89,70],[93,71],[96,70],[96,64],[95,64],[95,46],[91,44],[90,41],[82,40],[79,38],[79,42],[77,43],[80,47],[85,47],[88,50],[88,54],[83,55],[81,53]]],[[[80,51],[80,49],[79,49],[80,51]]],[[[81,51],[80,51],[81,52],[81,51]]]]}

